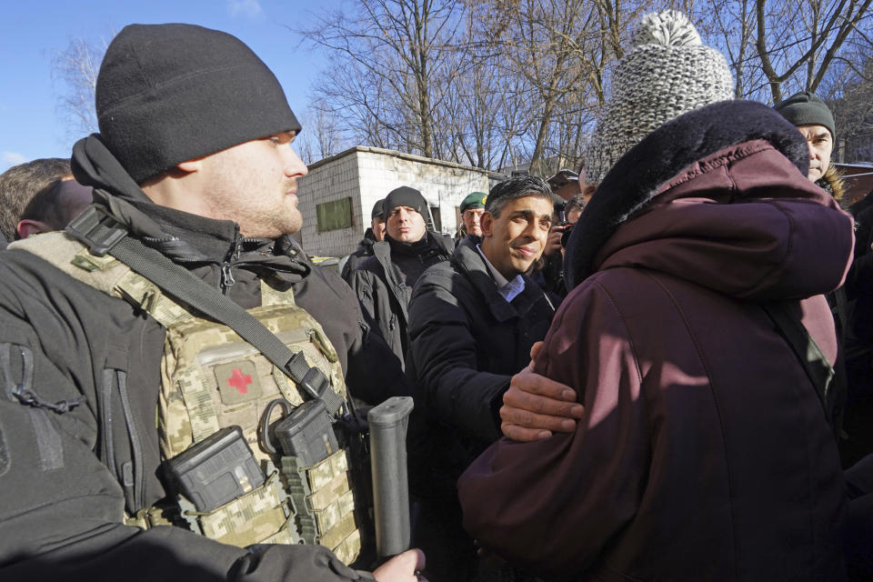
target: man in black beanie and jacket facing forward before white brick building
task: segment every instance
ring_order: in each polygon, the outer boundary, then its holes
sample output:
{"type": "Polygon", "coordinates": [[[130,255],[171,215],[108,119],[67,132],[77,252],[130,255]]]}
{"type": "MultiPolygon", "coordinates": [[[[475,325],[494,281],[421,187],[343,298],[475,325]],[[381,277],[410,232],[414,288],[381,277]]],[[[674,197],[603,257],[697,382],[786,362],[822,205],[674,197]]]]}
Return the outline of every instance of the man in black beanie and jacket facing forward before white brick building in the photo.
{"type": "Polygon", "coordinates": [[[382,332],[402,364],[412,288],[428,266],[447,260],[455,245],[433,232],[425,196],[415,188],[400,186],[389,192],[383,210],[385,240],[373,246],[373,256],[359,264],[348,283],[368,322],[382,332]]]}

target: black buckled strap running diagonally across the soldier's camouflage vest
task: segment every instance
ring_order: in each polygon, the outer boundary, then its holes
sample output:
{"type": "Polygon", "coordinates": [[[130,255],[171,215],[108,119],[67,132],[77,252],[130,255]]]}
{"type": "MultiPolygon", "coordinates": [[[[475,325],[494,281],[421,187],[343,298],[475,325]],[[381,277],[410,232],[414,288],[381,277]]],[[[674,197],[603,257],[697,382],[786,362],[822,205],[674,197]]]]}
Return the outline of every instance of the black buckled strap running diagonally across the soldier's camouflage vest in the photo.
{"type": "Polygon", "coordinates": [[[331,415],[336,416],[343,406],[343,398],[336,394],[326,376],[318,368],[309,366],[302,353],[292,352],[255,316],[185,267],[126,236],[125,227],[98,207],[86,208],[66,227],[66,231],[88,246],[92,254],[104,256],[111,251],[112,256],[169,295],[233,329],[309,396],[324,400],[331,415]]]}

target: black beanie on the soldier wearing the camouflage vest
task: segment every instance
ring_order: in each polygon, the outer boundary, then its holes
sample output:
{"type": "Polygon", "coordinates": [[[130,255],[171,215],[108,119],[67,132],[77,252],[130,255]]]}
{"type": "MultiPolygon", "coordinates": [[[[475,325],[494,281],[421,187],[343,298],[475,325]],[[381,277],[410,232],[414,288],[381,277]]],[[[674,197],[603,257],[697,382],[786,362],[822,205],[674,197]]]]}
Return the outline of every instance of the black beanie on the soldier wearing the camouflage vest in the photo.
{"type": "Polygon", "coordinates": [[[300,124],[276,75],[236,36],[196,25],[128,25],[96,86],[100,139],[141,184],[180,162],[300,124]]]}

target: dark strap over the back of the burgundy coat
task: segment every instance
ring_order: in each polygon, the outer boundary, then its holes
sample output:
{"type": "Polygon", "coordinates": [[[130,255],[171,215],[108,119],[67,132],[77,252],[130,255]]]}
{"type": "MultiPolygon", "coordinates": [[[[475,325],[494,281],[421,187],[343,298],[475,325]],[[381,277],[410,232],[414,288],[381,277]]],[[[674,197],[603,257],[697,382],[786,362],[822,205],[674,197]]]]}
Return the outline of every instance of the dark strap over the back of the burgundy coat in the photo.
{"type": "Polygon", "coordinates": [[[767,303],[761,305],[770,320],[776,325],[781,336],[785,337],[788,346],[798,357],[812,385],[816,387],[818,399],[825,411],[825,417],[830,422],[828,408],[828,393],[834,379],[834,368],[821,351],[816,340],[809,335],[807,328],[797,316],[788,311],[788,303],[767,303]]]}

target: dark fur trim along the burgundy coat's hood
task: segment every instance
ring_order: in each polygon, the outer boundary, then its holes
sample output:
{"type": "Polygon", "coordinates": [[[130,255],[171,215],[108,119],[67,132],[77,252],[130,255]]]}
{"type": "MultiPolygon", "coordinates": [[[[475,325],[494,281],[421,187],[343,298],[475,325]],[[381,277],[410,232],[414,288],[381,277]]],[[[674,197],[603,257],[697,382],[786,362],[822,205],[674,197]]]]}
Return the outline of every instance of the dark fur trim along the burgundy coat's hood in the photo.
{"type": "Polygon", "coordinates": [[[764,139],[806,176],[809,150],[797,127],[766,105],[723,101],[661,125],[622,156],[597,186],[567,244],[572,288],[594,273],[597,251],[658,188],[697,160],[728,146],[764,139]]]}

